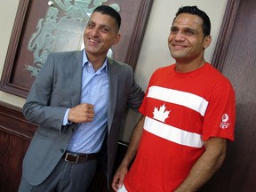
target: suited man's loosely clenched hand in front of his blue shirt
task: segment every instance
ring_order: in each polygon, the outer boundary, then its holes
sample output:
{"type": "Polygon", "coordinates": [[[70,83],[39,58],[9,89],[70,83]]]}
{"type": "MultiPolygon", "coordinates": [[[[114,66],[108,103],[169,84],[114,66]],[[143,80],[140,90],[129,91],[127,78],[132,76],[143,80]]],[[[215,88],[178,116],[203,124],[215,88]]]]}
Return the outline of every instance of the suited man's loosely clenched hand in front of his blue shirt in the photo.
{"type": "Polygon", "coordinates": [[[74,108],[70,108],[68,121],[73,123],[92,122],[94,117],[94,106],[88,103],[82,103],[74,108]]]}

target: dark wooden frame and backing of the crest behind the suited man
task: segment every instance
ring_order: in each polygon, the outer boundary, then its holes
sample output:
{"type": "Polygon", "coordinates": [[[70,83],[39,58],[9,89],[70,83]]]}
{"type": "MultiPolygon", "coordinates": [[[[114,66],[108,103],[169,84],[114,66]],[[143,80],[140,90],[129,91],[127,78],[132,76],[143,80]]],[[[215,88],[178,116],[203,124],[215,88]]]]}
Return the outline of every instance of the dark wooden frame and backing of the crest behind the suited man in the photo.
{"type": "MultiPolygon", "coordinates": [[[[74,0],[70,0],[72,2],[74,0]]],[[[80,0],[83,1],[83,0],[80,0]]],[[[88,2],[88,0],[87,0],[88,2]]],[[[91,1],[91,3],[93,0],[91,1]]],[[[104,4],[118,3],[121,9],[122,25],[121,41],[113,47],[115,59],[128,63],[133,70],[136,68],[143,36],[146,30],[149,12],[153,0],[105,0],[104,4]]],[[[27,98],[29,89],[36,77],[23,74],[24,58],[33,60],[32,52],[27,52],[28,36],[36,30],[36,22],[44,17],[48,0],[22,0],[12,28],[12,36],[4,61],[0,90],[22,98],[27,98]],[[45,5],[44,5],[45,4],[45,5]],[[37,18],[35,17],[37,15],[37,18]],[[26,52],[24,54],[24,52],[26,52]]]]}

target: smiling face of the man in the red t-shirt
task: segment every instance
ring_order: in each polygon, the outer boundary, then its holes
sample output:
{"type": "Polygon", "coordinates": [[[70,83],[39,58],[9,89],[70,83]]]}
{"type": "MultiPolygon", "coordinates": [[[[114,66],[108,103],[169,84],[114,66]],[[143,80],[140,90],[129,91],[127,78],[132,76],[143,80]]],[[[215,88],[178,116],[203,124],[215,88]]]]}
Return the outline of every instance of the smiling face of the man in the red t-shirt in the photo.
{"type": "Polygon", "coordinates": [[[200,17],[188,13],[180,13],[173,20],[168,46],[176,62],[204,60],[204,49],[211,43],[211,36],[204,37],[202,24],[200,17]]]}

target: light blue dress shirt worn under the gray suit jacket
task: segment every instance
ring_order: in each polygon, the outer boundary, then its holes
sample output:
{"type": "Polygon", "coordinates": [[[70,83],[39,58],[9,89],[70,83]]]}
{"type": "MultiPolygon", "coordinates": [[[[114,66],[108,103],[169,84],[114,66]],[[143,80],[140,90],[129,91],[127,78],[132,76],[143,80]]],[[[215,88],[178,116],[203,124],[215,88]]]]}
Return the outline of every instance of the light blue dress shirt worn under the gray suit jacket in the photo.
{"type": "MultiPolygon", "coordinates": [[[[107,59],[96,72],[88,61],[86,54],[83,55],[83,77],[81,103],[90,103],[94,106],[94,118],[92,122],[79,125],[71,138],[68,150],[76,153],[96,153],[107,132],[108,122],[108,64],[107,59]]],[[[68,110],[69,111],[69,110],[68,110]]],[[[66,120],[68,122],[68,111],[66,120]]]]}

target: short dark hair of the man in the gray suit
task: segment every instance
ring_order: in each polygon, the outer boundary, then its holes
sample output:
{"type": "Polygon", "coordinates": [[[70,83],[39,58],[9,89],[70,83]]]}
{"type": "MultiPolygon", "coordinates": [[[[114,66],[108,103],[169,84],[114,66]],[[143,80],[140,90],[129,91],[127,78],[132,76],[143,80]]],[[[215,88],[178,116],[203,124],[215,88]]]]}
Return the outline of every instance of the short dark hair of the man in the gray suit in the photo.
{"type": "Polygon", "coordinates": [[[93,12],[100,12],[101,14],[107,14],[110,17],[114,18],[116,20],[117,29],[119,30],[121,26],[121,16],[119,12],[116,12],[116,10],[108,5],[100,5],[94,9],[93,12]]]}

